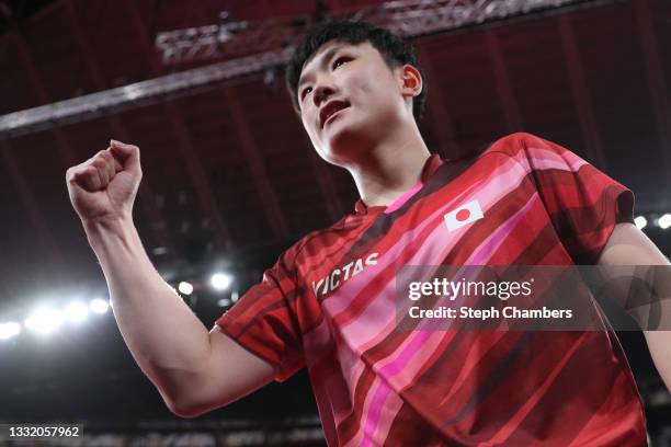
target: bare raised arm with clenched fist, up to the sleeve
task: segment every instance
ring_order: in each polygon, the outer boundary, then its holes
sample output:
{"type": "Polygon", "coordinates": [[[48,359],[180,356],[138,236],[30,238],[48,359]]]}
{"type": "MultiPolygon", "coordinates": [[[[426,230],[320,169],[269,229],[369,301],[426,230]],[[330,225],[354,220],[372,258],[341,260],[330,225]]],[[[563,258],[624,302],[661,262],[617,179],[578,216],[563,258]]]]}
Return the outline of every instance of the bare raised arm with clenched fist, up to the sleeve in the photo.
{"type": "Polygon", "coordinates": [[[117,141],[66,174],[126,345],[168,408],[194,416],[268,383],[274,370],[219,330],[208,332],[158,274],[133,222],[140,180],[139,149],[117,141]]]}

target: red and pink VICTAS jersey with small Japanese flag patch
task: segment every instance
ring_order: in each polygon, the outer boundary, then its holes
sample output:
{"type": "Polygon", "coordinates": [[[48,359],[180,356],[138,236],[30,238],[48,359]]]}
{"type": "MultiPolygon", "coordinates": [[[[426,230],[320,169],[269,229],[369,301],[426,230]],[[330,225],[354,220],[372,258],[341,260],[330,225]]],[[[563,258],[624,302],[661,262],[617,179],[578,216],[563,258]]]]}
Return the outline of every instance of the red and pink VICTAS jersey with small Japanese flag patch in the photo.
{"type": "Polygon", "coordinates": [[[432,156],[393,205],[360,200],[300,239],[216,324],[280,381],[307,366],[331,446],[645,445],[605,328],[399,331],[395,306],[403,265],[594,264],[633,206],[629,190],[533,135],[432,156]],[[476,216],[451,213],[474,200],[476,216]]]}

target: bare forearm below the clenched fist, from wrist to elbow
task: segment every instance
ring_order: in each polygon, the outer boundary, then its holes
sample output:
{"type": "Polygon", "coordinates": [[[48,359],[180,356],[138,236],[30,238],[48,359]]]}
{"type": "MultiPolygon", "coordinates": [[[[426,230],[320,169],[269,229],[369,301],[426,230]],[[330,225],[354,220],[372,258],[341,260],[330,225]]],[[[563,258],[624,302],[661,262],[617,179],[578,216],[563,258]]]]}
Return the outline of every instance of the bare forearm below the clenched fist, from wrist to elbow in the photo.
{"type": "Polygon", "coordinates": [[[149,261],[130,220],[84,224],[114,317],[133,357],[173,397],[209,356],[208,332],[149,261]]]}

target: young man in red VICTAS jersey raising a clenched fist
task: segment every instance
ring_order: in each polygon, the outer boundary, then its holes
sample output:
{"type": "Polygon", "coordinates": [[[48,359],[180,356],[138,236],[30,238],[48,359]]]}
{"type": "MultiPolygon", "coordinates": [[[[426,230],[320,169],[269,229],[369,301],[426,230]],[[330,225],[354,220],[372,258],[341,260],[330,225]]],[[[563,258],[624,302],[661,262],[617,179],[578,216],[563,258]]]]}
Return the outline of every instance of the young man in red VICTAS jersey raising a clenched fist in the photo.
{"type": "MultiPolygon", "coordinates": [[[[138,148],[112,141],[68,170],[124,340],[168,406],[195,416],[307,366],[329,445],[644,445],[611,332],[399,331],[395,303],[407,264],[668,265],[632,225],[633,194],[528,134],[431,156],[416,121],[421,68],[384,30],[314,30],[287,85],[315,149],[361,199],[283,253],[209,333],[133,225],[138,148]]],[[[668,333],[646,336],[671,383],[668,333]]]]}

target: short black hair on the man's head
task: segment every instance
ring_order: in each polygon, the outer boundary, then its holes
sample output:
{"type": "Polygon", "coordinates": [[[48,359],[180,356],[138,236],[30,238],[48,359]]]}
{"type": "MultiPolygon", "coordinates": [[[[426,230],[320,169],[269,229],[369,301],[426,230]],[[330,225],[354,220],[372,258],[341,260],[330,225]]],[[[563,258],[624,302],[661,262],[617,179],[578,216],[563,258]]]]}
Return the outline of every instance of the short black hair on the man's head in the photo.
{"type": "Polygon", "coordinates": [[[401,39],[388,30],[374,26],[366,22],[332,21],[319,24],[307,32],[303,41],[296,47],[294,55],[286,66],[286,89],[292,98],[294,108],[298,106],[298,80],[303,67],[315,53],[331,41],[344,42],[352,45],[371,43],[390,69],[409,64],[418,69],[422,77],[422,92],[412,99],[412,115],[419,123],[424,112],[427,102],[427,77],[424,70],[417,60],[412,45],[401,39]]]}

